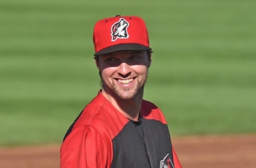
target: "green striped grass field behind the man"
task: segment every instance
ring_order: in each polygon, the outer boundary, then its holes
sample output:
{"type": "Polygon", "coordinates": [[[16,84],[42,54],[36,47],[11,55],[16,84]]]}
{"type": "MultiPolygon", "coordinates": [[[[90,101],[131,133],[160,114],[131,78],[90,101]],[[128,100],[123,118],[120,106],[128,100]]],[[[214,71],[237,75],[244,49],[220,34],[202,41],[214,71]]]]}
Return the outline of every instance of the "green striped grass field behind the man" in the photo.
{"type": "Polygon", "coordinates": [[[60,143],[98,93],[92,31],[145,19],[172,135],[256,132],[256,1],[0,1],[0,146],[60,143]]]}

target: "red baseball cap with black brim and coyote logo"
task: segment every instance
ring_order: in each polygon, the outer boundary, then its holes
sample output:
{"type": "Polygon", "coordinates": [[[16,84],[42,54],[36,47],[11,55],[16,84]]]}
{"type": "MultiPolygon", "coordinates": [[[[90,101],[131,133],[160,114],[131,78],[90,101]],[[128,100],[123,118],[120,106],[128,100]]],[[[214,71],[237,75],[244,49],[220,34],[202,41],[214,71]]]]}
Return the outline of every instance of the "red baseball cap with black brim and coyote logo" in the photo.
{"type": "Polygon", "coordinates": [[[93,31],[95,56],[121,50],[151,50],[145,22],[138,16],[99,20],[93,31]]]}

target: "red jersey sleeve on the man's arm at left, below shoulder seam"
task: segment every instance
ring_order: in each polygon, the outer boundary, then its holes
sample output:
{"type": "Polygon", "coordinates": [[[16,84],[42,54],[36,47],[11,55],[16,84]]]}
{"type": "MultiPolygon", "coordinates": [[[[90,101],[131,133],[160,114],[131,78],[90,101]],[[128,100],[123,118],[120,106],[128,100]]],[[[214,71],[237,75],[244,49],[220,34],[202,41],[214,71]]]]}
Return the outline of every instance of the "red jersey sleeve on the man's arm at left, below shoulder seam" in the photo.
{"type": "Polygon", "coordinates": [[[110,163],[110,145],[91,127],[72,130],[61,145],[60,168],[103,168],[110,163]]]}

